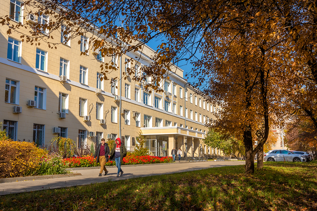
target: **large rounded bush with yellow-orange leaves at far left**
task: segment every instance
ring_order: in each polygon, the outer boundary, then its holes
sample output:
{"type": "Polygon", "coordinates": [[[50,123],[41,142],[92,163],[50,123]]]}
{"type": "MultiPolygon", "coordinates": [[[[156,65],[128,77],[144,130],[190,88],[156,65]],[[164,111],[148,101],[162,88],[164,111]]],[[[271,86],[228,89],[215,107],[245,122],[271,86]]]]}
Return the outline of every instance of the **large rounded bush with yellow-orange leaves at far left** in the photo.
{"type": "Polygon", "coordinates": [[[30,176],[46,154],[33,143],[0,139],[0,178],[30,176]]]}

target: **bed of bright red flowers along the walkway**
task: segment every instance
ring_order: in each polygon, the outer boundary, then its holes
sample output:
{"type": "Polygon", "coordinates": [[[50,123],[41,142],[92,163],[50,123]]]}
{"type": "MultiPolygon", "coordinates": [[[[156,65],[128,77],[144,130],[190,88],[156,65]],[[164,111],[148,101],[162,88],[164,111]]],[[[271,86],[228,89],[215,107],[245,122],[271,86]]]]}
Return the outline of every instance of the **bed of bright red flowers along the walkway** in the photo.
{"type": "MultiPolygon", "coordinates": [[[[135,164],[153,164],[153,163],[170,163],[173,161],[172,157],[153,157],[153,156],[133,156],[128,155],[123,158],[123,162],[121,165],[135,165],[135,164]]],[[[100,166],[99,163],[96,162],[94,156],[87,155],[84,157],[73,157],[73,158],[64,158],[62,161],[67,168],[75,168],[75,167],[93,167],[100,166]]],[[[114,161],[108,161],[106,163],[107,166],[115,165],[114,161]]]]}

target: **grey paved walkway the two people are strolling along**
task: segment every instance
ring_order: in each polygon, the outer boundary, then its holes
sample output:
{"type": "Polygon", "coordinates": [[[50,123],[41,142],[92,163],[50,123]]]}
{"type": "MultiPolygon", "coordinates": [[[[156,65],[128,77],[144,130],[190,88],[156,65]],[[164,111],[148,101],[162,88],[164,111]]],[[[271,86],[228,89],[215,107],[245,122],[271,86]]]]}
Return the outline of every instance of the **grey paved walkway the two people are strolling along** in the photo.
{"type": "MultiPolygon", "coordinates": [[[[208,161],[197,163],[175,162],[167,164],[148,164],[148,165],[123,165],[124,174],[117,176],[117,167],[107,167],[107,176],[98,177],[100,169],[73,170],[74,173],[81,173],[77,177],[53,178],[45,180],[23,181],[13,183],[1,183],[0,195],[11,193],[21,193],[44,189],[64,188],[77,185],[87,185],[136,177],[148,177],[153,175],[173,174],[184,171],[196,171],[201,169],[221,167],[228,165],[244,165],[244,161],[208,161]]],[[[104,175],[104,174],[103,174],[104,175]]]]}

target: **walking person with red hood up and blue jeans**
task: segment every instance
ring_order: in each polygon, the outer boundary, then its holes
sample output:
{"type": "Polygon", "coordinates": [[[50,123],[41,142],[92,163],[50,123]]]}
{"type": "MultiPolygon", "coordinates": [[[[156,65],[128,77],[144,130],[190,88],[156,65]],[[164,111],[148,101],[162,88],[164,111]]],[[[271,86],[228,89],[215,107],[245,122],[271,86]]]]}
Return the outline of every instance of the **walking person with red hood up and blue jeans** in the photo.
{"type": "Polygon", "coordinates": [[[115,143],[113,145],[113,148],[111,150],[111,152],[109,153],[109,158],[110,160],[114,157],[114,160],[116,162],[116,166],[118,168],[118,173],[117,173],[117,177],[123,175],[123,171],[121,169],[121,163],[123,160],[123,157],[126,157],[126,146],[124,146],[124,144],[121,144],[121,140],[120,138],[117,138],[115,140],[115,143]]]}

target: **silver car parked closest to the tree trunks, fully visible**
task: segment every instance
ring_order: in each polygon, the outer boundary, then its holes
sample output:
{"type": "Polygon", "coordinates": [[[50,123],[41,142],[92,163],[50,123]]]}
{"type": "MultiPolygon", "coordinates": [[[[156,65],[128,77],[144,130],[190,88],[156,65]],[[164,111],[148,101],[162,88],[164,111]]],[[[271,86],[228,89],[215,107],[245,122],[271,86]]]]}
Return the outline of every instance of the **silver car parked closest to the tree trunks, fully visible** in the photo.
{"type": "Polygon", "coordinates": [[[263,155],[264,161],[293,161],[293,162],[306,162],[306,156],[295,154],[288,150],[270,150],[263,155]]]}

